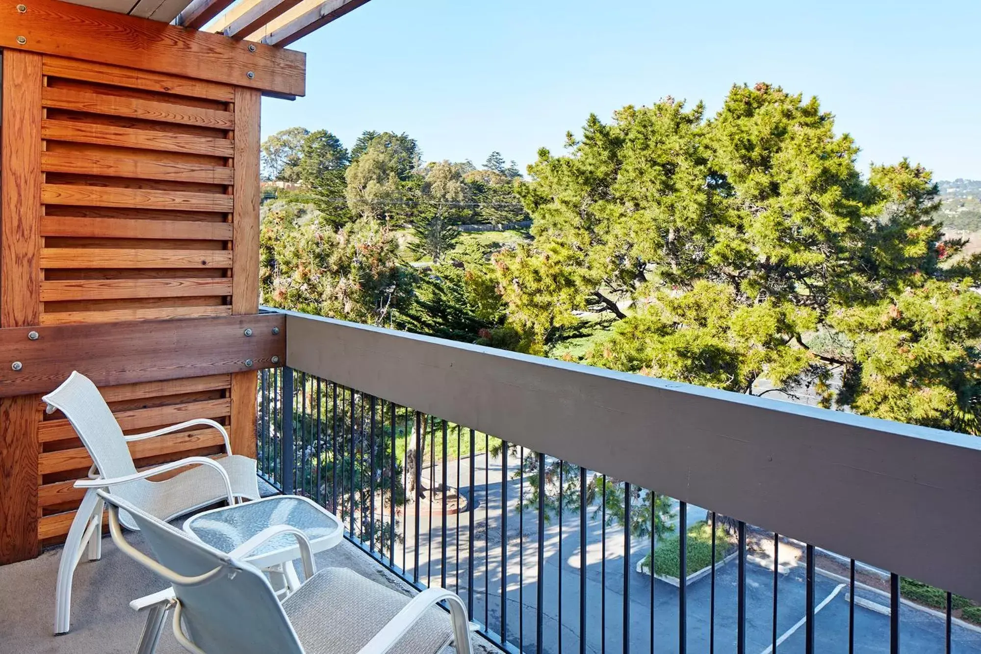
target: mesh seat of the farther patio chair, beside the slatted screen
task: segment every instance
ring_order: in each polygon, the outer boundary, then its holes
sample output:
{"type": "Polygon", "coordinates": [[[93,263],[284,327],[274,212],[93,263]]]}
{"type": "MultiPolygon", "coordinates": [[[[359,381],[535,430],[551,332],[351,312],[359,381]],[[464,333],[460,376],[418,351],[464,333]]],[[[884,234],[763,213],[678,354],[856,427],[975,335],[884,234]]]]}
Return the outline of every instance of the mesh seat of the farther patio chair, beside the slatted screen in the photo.
{"type": "MultiPolygon", "coordinates": [[[[215,463],[220,464],[229,473],[232,492],[236,497],[259,499],[254,459],[230,455],[215,459],[215,463]]],[[[117,486],[112,492],[154,518],[165,521],[222,502],[228,497],[225,482],[218,471],[204,465],[190,467],[163,481],[138,479],[117,486]]],[[[128,529],[139,529],[136,522],[125,511],[120,512],[120,521],[128,529]]]]}

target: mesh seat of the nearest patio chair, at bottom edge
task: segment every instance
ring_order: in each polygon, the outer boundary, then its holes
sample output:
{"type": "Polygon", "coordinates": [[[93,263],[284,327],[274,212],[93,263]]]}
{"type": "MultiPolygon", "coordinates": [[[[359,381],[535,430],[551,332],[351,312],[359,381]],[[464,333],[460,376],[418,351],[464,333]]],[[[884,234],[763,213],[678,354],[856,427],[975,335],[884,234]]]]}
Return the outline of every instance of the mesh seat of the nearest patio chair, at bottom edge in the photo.
{"type": "MultiPolygon", "coordinates": [[[[356,654],[410,599],[357,572],[328,568],[287,597],[283,609],[305,654],[356,654]]],[[[452,637],[446,613],[433,607],[390,651],[433,654],[452,637]]]]}

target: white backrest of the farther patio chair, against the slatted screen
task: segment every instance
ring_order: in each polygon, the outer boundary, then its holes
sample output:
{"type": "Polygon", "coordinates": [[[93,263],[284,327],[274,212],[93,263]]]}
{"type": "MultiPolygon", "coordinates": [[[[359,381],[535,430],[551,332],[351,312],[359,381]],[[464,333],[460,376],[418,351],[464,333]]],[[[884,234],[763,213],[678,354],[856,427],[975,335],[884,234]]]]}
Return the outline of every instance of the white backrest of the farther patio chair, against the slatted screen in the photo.
{"type": "Polygon", "coordinates": [[[136,471],[123,430],[92,380],[75,371],[42,399],[61,410],[72,423],[103,478],[123,477],[136,471]]]}

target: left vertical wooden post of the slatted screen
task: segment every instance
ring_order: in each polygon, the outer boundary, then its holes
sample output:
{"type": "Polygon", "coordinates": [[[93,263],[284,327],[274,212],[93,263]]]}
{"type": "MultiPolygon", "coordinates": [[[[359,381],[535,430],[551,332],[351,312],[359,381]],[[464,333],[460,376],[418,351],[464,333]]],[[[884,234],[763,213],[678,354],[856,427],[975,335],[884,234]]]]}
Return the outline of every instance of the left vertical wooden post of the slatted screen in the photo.
{"type": "MultiPolygon", "coordinates": [[[[40,312],[40,56],[3,54],[2,95],[0,327],[19,327],[40,312]]],[[[36,397],[0,400],[0,564],[37,554],[39,416],[36,397]]]]}

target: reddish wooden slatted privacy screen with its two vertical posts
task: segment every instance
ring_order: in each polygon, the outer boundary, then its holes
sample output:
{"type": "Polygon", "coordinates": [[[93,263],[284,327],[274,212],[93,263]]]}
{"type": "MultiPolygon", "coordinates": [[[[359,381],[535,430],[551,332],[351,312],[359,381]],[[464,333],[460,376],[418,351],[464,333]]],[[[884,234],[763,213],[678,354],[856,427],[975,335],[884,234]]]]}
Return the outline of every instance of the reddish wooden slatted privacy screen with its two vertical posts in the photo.
{"type": "MultiPolygon", "coordinates": [[[[257,312],[260,91],[2,57],[0,327],[257,312]]],[[[254,456],[255,388],[242,372],[102,390],[127,433],[211,417],[254,456]]],[[[130,450],[144,466],[220,440],[189,430],[130,450]]],[[[38,396],[0,399],[0,563],[64,537],[89,464],[38,396]]]]}

